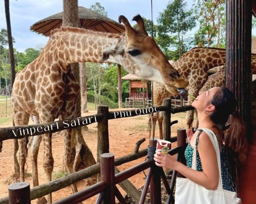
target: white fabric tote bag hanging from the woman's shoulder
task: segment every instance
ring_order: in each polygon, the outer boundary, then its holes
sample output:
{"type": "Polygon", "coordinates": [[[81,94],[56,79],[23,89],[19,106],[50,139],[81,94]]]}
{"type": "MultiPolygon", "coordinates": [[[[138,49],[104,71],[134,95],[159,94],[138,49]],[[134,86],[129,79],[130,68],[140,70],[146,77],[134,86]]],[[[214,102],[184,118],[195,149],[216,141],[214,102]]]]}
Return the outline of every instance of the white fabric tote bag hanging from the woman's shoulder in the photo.
{"type": "MultiPolygon", "coordinates": [[[[176,180],[175,204],[235,204],[240,203],[236,192],[224,190],[221,178],[220,150],[216,136],[209,129],[202,129],[211,139],[216,151],[219,168],[219,185],[216,190],[208,190],[188,178],[176,180]]],[[[196,148],[194,147],[192,169],[196,170],[196,148]]]]}

